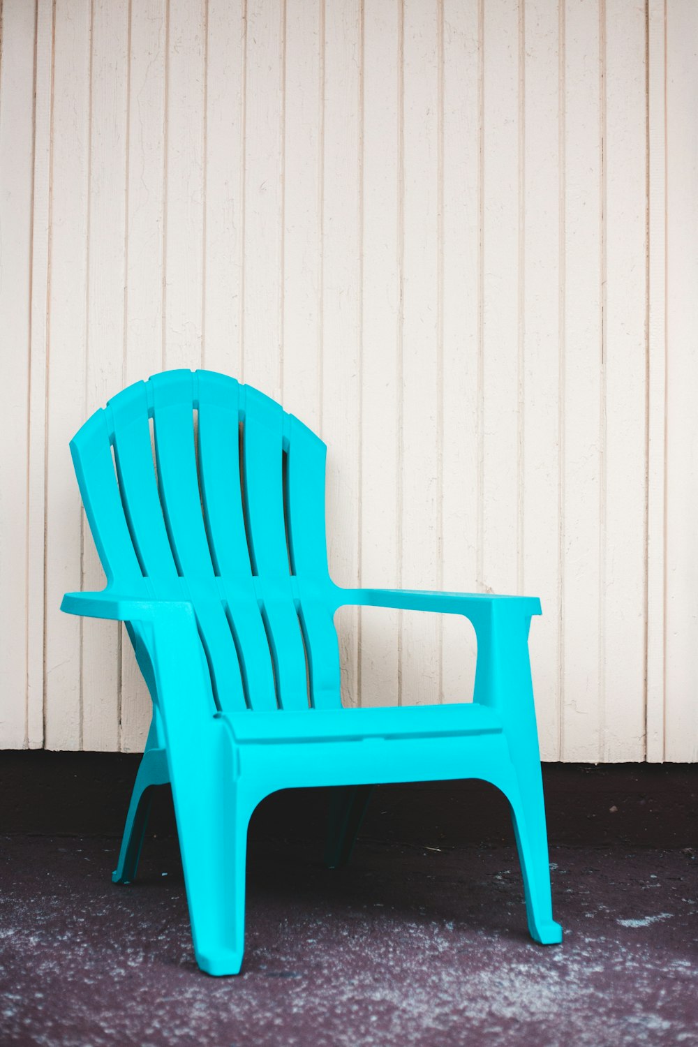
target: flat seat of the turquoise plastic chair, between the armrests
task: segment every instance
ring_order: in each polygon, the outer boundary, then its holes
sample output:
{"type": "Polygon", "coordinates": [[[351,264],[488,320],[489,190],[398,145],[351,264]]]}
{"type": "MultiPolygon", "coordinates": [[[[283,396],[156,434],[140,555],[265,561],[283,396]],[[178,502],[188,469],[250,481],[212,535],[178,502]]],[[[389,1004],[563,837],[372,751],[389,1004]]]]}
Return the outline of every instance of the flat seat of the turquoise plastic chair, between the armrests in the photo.
{"type": "Polygon", "coordinates": [[[250,710],[224,718],[241,744],[438,738],[496,734],[502,730],[496,713],[473,701],[371,709],[250,710]]]}

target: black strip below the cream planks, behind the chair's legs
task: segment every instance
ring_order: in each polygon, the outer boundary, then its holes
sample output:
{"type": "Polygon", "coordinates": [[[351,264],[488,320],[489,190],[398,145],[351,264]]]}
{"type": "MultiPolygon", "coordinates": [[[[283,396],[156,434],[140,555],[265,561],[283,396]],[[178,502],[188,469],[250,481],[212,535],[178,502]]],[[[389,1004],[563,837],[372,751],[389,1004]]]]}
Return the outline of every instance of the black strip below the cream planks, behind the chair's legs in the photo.
{"type": "MultiPolygon", "coordinates": [[[[121,753],[0,752],[0,833],[120,836],[140,756],[121,753]]],[[[626,843],[696,847],[698,764],[543,765],[551,844],[626,843]]],[[[157,789],[154,836],[173,836],[167,787],[157,789]]],[[[258,837],[319,838],[327,789],[286,790],[257,808],[258,837]]],[[[361,836],[426,847],[511,842],[506,801],[479,781],[384,785],[361,836]]]]}

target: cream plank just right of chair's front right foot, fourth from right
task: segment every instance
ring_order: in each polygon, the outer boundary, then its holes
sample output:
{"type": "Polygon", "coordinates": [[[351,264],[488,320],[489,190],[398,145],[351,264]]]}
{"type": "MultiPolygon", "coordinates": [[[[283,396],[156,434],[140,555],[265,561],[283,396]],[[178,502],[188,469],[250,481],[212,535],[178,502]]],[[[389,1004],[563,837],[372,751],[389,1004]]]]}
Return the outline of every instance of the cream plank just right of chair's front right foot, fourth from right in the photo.
{"type": "Polygon", "coordinates": [[[601,738],[600,9],[564,8],[563,760],[598,760],[601,738]]]}

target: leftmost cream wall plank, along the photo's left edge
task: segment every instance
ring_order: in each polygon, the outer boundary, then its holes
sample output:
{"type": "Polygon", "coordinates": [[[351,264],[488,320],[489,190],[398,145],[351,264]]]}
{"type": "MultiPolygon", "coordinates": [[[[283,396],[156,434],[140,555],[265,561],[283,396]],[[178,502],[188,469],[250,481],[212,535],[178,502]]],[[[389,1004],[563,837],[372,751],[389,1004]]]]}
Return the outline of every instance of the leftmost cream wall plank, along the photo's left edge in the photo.
{"type": "Polygon", "coordinates": [[[27,468],[31,272],[32,5],[0,8],[0,747],[27,743],[27,468]],[[12,157],[12,162],[9,158],[12,157]]]}

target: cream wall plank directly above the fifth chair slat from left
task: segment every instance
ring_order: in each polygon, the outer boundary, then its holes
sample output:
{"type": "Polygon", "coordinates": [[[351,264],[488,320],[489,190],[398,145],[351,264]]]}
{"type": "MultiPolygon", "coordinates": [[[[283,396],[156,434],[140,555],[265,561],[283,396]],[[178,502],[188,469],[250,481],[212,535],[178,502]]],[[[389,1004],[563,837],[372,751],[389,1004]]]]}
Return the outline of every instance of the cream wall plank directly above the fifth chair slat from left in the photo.
{"type": "Polygon", "coordinates": [[[243,379],[278,400],[282,381],[285,4],[249,0],[245,80],[243,379]]]}

